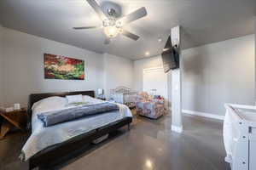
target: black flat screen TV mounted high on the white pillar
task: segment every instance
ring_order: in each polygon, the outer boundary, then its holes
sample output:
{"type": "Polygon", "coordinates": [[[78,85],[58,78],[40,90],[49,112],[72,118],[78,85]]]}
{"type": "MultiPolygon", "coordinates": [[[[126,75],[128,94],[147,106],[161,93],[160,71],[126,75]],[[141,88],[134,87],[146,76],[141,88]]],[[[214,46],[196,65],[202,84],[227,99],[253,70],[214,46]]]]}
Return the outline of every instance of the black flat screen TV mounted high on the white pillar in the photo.
{"type": "Polygon", "coordinates": [[[170,36],[168,37],[166,46],[163,49],[161,56],[165,72],[179,68],[179,54],[177,50],[172,47],[170,36]]]}

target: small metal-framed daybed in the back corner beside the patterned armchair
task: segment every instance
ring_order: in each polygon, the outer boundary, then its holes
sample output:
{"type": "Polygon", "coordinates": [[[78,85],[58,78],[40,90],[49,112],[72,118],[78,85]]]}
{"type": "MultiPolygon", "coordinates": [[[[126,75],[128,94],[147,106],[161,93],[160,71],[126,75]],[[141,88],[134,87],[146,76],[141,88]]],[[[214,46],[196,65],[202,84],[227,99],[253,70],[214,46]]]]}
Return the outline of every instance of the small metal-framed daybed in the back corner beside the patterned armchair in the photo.
{"type": "Polygon", "coordinates": [[[110,90],[110,99],[116,103],[127,105],[130,108],[135,107],[137,92],[132,92],[131,88],[119,86],[110,90]]]}

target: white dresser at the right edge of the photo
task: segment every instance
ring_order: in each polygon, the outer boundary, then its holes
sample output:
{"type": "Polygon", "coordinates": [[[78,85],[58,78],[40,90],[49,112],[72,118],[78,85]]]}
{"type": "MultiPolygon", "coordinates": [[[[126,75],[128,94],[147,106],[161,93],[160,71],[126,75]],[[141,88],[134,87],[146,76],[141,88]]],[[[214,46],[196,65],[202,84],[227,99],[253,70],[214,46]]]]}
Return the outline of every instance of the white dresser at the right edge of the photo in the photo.
{"type": "Polygon", "coordinates": [[[225,161],[232,170],[256,170],[256,106],[225,104],[225,161]]]}

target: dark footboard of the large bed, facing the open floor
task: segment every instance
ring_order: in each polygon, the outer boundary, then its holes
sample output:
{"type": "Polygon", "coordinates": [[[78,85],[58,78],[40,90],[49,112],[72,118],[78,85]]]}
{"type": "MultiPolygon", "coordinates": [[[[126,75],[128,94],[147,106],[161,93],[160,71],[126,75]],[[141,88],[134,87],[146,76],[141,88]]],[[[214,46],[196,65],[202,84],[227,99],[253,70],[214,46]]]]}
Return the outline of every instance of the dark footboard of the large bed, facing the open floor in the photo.
{"type": "Polygon", "coordinates": [[[88,144],[94,139],[98,139],[107,133],[111,133],[119,129],[119,127],[124,127],[125,125],[128,125],[130,129],[131,122],[131,117],[125,117],[124,119],[118,122],[113,122],[108,126],[99,127],[89,133],[84,133],[78,137],[67,140],[64,143],[51,146],[39,152],[37,155],[32,156],[29,160],[29,170],[36,167],[49,168],[61,163],[62,161],[68,160],[70,159],[68,156],[71,156],[73,152],[83,148],[84,144],[88,144]]]}

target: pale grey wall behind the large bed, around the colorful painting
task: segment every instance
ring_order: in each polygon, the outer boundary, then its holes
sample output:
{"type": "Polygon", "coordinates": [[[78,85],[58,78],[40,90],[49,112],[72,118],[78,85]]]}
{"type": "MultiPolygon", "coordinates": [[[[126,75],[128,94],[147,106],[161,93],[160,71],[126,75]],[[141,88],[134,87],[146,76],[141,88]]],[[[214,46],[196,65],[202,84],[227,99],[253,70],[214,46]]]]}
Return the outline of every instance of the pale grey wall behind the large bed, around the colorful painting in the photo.
{"type": "Polygon", "coordinates": [[[61,42],[3,29],[4,103],[26,105],[32,93],[103,88],[103,56],[61,42]],[[84,59],[85,80],[44,79],[44,53],[84,59]]]}

